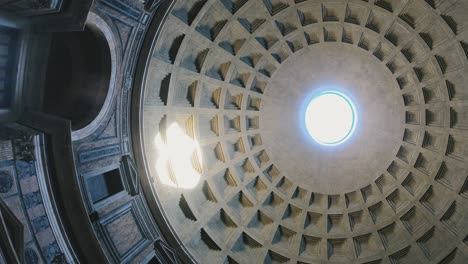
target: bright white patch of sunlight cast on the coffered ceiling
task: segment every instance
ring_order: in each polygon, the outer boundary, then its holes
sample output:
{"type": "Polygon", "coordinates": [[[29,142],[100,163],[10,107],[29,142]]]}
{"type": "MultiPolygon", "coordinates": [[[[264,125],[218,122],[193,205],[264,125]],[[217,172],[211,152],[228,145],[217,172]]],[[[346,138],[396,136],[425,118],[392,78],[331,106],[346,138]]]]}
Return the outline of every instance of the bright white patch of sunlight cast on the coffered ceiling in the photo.
{"type": "Polygon", "coordinates": [[[202,172],[202,155],[198,142],[187,136],[177,123],[172,123],[165,135],[156,136],[158,160],[156,171],[165,185],[193,189],[202,172]]]}

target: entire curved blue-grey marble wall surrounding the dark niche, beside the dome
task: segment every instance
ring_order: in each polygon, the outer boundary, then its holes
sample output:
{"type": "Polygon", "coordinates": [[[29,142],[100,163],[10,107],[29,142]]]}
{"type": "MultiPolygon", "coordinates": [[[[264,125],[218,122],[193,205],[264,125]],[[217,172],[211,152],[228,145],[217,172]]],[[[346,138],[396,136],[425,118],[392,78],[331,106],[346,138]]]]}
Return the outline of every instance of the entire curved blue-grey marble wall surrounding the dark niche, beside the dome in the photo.
{"type": "MultiPolygon", "coordinates": [[[[47,65],[40,60],[47,57],[37,53],[54,50],[31,45],[21,54],[28,65],[19,69],[25,73],[21,99],[26,105],[17,120],[0,126],[0,199],[24,226],[25,263],[91,263],[93,259],[99,263],[179,263],[176,250],[163,237],[140,193],[130,133],[138,54],[151,21],[158,20],[160,12],[164,14],[158,10],[161,1],[95,0],[87,5],[90,1],[70,0],[62,9],[60,2],[10,1],[11,6],[0,4],[0,10],[18,16],[14,21],[31,24],[18,29],[26,36],[22,38],[26,44],[39,38],[37,43],[47,43],[50,35],[44,31],[62,33],[85,26],[101,31],[111,50],[112,76],[96,119],[73,130],[69,120],[44,114],[40,104],[28,105],[30,98],[36,98],[35,90],[47,89],[40,85],[45,82],[41,76],[45,71],[40,68],[47,65]],[[31,8],[35,12],[23,12],[31,8]],[[42,9],[57,13],[28,18],[42,9]],[[83,17],[87,17],[85,22],[83,17]],[[90,186],[89,179],[99,175],[107,176],[90,186]],[[112,188],[116,182],[119,188],[115,190],[99,189],[112,188]],[[93,199],[93,193],[103,195],[93,199]]],[[[6,32],[2,30],[0,82],[3,47],[11,43],[2,37],[6,32]]],[[[5,252],[0,250],[2,256],[5,252]]]]}

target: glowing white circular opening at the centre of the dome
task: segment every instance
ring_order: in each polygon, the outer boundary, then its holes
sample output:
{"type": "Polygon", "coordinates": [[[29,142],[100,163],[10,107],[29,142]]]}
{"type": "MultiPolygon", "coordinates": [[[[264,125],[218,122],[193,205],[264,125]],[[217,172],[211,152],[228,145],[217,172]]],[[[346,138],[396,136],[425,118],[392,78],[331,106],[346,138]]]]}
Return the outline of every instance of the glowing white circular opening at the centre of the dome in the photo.
{"type": "Polygon", "coordinates": [[[312,98],[305,124],[310,136],[321,145],[336,146],[354,132],[357,113],[353,102],[337,91],[326,91],[312,98]]]}

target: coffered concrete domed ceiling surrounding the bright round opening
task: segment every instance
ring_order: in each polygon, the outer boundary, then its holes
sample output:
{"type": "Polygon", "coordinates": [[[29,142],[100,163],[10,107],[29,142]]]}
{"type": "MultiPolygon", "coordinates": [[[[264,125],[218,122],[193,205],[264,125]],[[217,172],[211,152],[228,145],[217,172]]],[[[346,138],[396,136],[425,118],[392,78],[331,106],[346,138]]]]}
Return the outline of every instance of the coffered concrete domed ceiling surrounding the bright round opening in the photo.
{"type": "Polygon", "coordinates": [[[142,134],[194,261],[466,263],[467,29],[461,0],[175,1],[142,134]],[[334,147],[304,129],[330,87],[359,115],[334,147]]]}

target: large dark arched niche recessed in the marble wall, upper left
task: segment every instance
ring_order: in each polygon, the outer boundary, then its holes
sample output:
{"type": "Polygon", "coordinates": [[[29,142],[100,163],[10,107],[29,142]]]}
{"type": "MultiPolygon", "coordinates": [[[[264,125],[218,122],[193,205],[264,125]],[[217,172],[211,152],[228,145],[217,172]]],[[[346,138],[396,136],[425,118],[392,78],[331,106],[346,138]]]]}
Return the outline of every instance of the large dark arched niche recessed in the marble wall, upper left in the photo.
{"type": "Polygon", "coordinates": [[[73,130],[86,127],[106,101],[111,73],[109,45],[97,28],[52,34],[43,111],[71,120],[73,130]]]}

